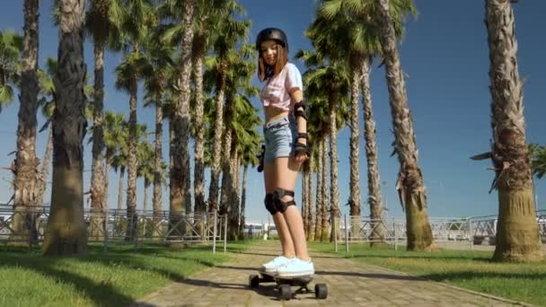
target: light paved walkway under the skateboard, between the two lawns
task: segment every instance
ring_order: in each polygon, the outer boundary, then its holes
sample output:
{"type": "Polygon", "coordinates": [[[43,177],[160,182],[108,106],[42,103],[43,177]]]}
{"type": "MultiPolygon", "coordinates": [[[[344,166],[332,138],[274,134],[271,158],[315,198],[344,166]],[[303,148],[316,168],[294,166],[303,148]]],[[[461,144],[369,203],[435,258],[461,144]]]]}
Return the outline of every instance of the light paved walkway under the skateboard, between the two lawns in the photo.
{"type": "Polygon", "coordinates": [[[513,306],[515,303],[485,294],[424,281],[388,269],[357,264],[325,254],[312,253],[315,278],[311,284],[328,285],[328,298],[298,294],[277,299],[275,284],[248,287],[249,275],[279,253],[277,241],[263,242],[239,254],[225,265],[207,268],[188,279],[149,294],[134,307],[148,306],[513,306]]]}

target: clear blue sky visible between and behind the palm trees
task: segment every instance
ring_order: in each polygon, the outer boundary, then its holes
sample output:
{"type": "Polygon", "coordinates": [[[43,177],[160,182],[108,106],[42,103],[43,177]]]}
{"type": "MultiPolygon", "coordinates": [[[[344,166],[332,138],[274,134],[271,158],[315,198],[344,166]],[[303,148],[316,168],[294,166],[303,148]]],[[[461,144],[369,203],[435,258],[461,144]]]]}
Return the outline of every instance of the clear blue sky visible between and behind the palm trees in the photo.
{"type": "MultiPolygon", "coordinates": [[[[258,31],[265,27],[278,27],[286,31],[290,44],[290,58],[300,48],[310,48],[304,38],[304,30],[313,20],[315,1],[277,0],[240,2],[251,20],[250,42],[258,31]]],[[[22,1],[3,0],[0,13],[0,29],[22,32],[22,1]]],[[[424,1],[416,0],[417,20],[407,22],[406,35],[400,45],[401,65],[408,75],[407,91],[410,110],[419,148],[418,162],[427,186],[428,210],[431,216],[493,215],[498,212],[497,193],[488,194],[493,172],[487,170],[489,161],[474,162],[469,157],[489,150],[491,137],[489,119],[489,50],[484,21],[484,1],[424,1]]],[[[40,66],[47,57],[57,57],[57,29],[50,20],[52,0],[40,2],[40,66]]],[[[524,84],[524,115],[527,124],[527,140],[530,143],[546,144],[543,118],[546,115],[546,60],[543,50],[546,42],[543,27],[537,27],[546,11],[546,2],[521,1],[515,4],[515,31],[518,42],[519,73],[524,84]],[[542,85],[541,85],[542,84],[542,85]],[[542,123],[542,124],[541,124],[542,123]]],[[[92,45],[85,43],[85,61],[92,73],[92,45]]],[[[113,84],[114,69],[119,65],[119,54],[106,57],[106,98],[109,110],[128,114],[128,95],[117,92],[113,84]]],[[[293,60],[304,73],[303,63],[293,60]]],[[[389,215],[402,215],[401,206],[394,189],[398,172],[398,161],[389,157],[392,152],[392,123],[388,105],[388,92],[384,70],[374,61],[371,75],[374,118],[377,128],[379,169],[383,184],[383,201],[389,215]]],[[[255,85],[260,83],[254,78],[255,85]]],[[[142,92],[139,95],[138,120],[154,127],[154,111],[142,108],[142,92]]],[[[260,102],[253,100],[256,106],[260,102]]],[[[18,101],[0,114],[0,166],[13,161],[17,128],[18,101]]],[[[360,112],[362,114],[362,112],[360,112]]],[[[262,113],[260,113],[262,115],[262,113]]],[[[362,115],[361,115],[362,116],[362,115]]],[[[39,117],[39,125],[43,118],[39,117]]],[[[361,121],[361,128],[363,123],[361,121]]],[[[339,203],[342,212],[348,200],[348,137],[350,131],[343,128],[338,137],[339,153],[339,203]]],[[[37,150],[40,157],[45,150],[45,132],[39,136],[37,150]]],[[[164,142],[167,142],[165,137],[164,142]]],[[[163,147],[167,148],[167,147],[163,147]]],[[[192,146],[193,148],[193,146],[192,146]]],[[[192,150],[193,151],[193,150],[192,150]]],[[[91,146],[85,145],[85,170],[91,168],[91,146]]],[[[167,153],[165,158],[167,157],[167,153]]],[[[262,175],[249,171],[247,216],[252,221],[266,221],[268,213],[263,207],[262,175]]],[[[84,173],[84,185],[89,187],[90,172],[84,173]]],[[[11,196],[9,180],[11,172],[0,171],[0,202],[11,196]]],[[[118,177],[110,173],[109,206],[117,204],[118,177]]],[[[138,181],[138,206],[142,206],[142,182],[138,181]]],[[[360,142],[360,185],[363,214],[369,215],[365,204],[366,176],[364,141],[360,142]]],[[[127,184],[126,184],[127,187],[127,184]]],[[[207,173],[208,188],[208,173],[207,173]]],[[[296,201],[300,201],[300,184],[296,186],[296,201]]],[[[168,207],[167,190],[164,189],[163,207],[168,207]]],[[[536,180],[539,209],[546,209],[546,180],[536,180]]],[[[151,191],[150,191],[151,196],[151,191]]],[[[48,189],[46,201],[50,197],[48,189]]],[[[125,194],[124,194],[125,199],[125,194]]],[[[151,199],[149,200],[151,204],[151,199]]],[[[124,204],[125,205],[125,204],[124,204]]]]}

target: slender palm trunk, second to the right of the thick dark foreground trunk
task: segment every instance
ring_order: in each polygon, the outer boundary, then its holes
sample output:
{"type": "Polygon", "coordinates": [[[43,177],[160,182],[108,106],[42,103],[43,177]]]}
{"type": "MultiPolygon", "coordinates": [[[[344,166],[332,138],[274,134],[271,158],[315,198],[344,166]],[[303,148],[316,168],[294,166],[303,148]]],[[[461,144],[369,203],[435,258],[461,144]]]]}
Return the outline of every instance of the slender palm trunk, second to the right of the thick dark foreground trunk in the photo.
{"type": "Polygon", "coordinates": [[[129,93],[129,150],[127,183],[126,240],[133,241],[137,234],[137,80],[131,80],[129,93]]]}

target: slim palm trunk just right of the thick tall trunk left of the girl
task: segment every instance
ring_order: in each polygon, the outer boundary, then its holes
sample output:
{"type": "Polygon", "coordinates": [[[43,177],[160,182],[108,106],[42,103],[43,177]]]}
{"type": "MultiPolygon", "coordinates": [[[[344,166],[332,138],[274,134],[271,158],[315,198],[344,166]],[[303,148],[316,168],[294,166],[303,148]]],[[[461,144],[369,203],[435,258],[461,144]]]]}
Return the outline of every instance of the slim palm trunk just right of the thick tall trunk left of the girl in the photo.
{"type": "Polygon", "coordinates": [[[203,59],[205,57],[205,38],[199,36],[193,39],[193,54],[195,58],[195,162],[194,162],[194,197],[195,213],[202,215],[207,212],[205,203],[205,129],[203,129],[203,59]]]}

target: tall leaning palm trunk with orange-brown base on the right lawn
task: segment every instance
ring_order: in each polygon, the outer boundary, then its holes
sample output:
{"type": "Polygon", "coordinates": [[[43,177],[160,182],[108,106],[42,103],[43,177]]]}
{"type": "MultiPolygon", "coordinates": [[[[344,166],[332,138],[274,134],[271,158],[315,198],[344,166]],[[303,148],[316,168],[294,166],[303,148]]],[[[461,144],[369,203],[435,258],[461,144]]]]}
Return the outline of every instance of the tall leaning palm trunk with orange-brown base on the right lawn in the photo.
{"type": "Polygon", "coordinates": [[[400,162],[396,187],[401,205],[406,210],[408,250],[429,250],[433,245],[433,237],[428,222],[427,193],[423,184],[423,174],[418,166],[413,119],[408,107],[406,83],[389,13],[389,0],[377,1],[379,5],[376,12],[381,27],[381,42],[394,127],[394,148],[400,162]]]}

